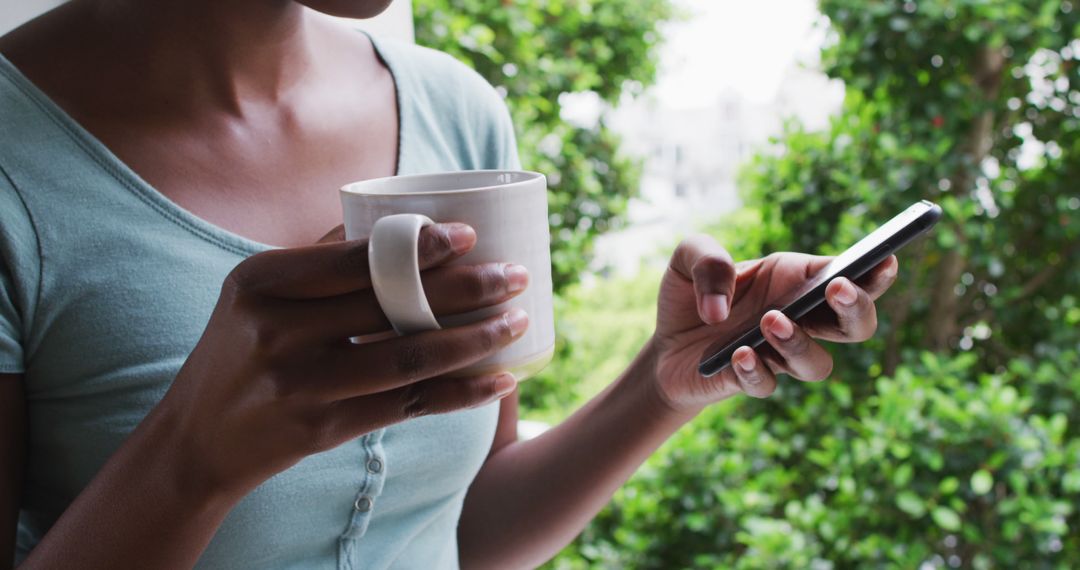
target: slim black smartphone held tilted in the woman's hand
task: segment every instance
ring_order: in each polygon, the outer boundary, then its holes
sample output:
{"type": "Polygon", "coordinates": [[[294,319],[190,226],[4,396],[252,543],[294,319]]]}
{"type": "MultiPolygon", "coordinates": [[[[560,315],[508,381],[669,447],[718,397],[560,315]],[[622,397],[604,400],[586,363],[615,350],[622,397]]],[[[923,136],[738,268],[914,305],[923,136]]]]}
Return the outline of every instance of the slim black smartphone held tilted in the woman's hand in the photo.
{"type": "Polygon", "coordinates": [[[781,296],[752,320],[747,320],[747,329],[735,340],[720,340],[706,349],[698,371],[706,377],[718,374],[731,365],[731,355],[739,347],[756,349],[765,343],[760,328],[765,313],[779,309],[792,321],[801,318],[825,302],[825,287],[831,281],[836,277],[858,280],[912,240],[933,228],[941,217],[942,208],[933,202],[923,200],[913,204],[837,256],[809,281],[781,296]]]}

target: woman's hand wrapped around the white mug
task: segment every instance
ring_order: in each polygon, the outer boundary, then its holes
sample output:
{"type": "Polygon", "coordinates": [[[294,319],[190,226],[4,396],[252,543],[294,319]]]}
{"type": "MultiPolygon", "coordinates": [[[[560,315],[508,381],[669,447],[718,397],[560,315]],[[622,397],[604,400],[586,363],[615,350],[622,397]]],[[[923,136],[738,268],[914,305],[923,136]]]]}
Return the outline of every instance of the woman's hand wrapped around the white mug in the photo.
{"type": "MultiPolygon", "coordinates": [[[[472,311],[521,293],[521,266],[443,267],[475,244],[464,225],[420,234],[435,314],[472,311]]],[[[364,344],[389,331],[372,289],[367,242],[276,249],[226,280],[198,345],[147,418],[173,434],[195,492],[239,499],[303,457],[429,413],[510,394],[509,374],[447,377],[519,338],[521,310],[471,325],[364,344]]]]}

